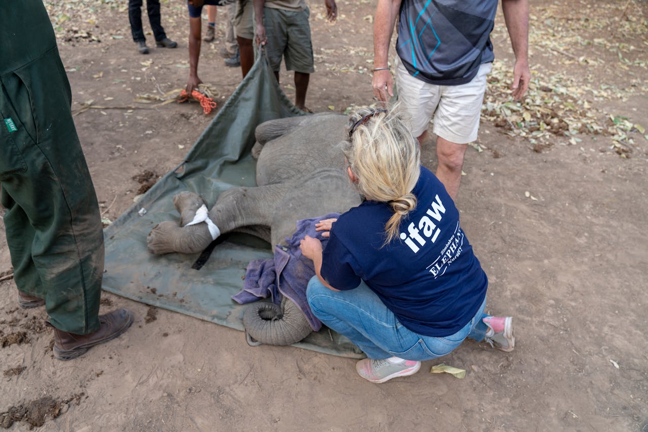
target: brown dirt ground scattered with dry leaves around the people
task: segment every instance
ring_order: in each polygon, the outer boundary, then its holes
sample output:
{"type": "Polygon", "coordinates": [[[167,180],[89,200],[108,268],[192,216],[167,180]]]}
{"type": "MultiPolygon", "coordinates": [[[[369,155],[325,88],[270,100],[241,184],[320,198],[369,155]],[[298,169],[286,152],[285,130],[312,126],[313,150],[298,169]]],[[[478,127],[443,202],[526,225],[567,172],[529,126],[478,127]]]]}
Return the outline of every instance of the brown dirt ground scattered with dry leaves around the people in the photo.
{"type": "MultiPolygon", "coordinates": [[[[213,119],[197,104],[133,102],[184,87],[187,12],[181,0],[163,1],[163,25],[179,47],[143,56],[130,38],[126,2],[46,3],[73,109],[106,107],[75,121],[103,216],[115,220],[141,187],[133,176],[150,180],[146,171],[162,176],[174,168],[213,119]]],[[[467,341],[413,376],[375,385],[358,377],[354,360],[249,347],[241,332],[103,293],[102,311],[128,308],[135,323],[62,362],[52,357],[43,308],[17,308],[0,231],[0,424],[648,431],[648,7],[640,0],[531,3],[531,91],[522,106],[507,102],[513,54],[500,14],[492,38],[499,66],[457,199],[491,282],[487,309],[515,317],[514,352],[467,341]],[[430,374],[442,361],[466,369],[465,379],[430,374]]],[[[321,3],[310,2],[316,73],[307,105],[316,112],[375,102],[367,71],[375,2],[338,6],[330,24],[321,3]]],[[[218,40],[203,44],[199,74],[220,107],[240,69],[218,56],[223,17],[217,21],[218,40]]],[[[293,98],[292,73],[283,71],[281,82],[293,98]]],[[[435,160],[428,142],[422,162],[434,170],[435,160]]]]}

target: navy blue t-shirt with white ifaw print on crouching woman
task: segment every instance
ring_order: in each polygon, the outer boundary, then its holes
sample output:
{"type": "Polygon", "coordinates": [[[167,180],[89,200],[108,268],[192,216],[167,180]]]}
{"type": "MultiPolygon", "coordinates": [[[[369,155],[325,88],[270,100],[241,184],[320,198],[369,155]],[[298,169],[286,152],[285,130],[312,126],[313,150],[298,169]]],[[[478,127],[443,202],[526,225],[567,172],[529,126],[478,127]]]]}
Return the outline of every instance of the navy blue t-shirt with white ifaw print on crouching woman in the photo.
{"type": "Polygon", "coordinates": [[[413,190],[417,207],[400,224],[400,238],[381,247],[386,203],[365,201],[333,223],[322,256],[322,277],[336,290],[360,280],[406,328],[427,336],[452,335],[483,302],[488,280],[459,227],[459,211],[427,168],[413,190]]]}

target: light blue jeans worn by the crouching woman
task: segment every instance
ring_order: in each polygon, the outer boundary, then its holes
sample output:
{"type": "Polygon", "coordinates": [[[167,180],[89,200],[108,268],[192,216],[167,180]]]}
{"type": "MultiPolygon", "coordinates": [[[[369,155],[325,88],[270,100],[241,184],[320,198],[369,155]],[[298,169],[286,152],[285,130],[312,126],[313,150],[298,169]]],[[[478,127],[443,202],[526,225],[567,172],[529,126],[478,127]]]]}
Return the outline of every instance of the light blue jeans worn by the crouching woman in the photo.
{"type": "Polygon", "coordinates": [[[370,359],[397,356],[430,360],[445,356],[470,337],[481,341],[488,326],[481,321],[486,300],[461,330],[445,337],[424,336],[408,330],[364,282],[349,291],[333,291],[317,276],[308,282],[308,304],[322,323],[345,335],[370,359]]]}

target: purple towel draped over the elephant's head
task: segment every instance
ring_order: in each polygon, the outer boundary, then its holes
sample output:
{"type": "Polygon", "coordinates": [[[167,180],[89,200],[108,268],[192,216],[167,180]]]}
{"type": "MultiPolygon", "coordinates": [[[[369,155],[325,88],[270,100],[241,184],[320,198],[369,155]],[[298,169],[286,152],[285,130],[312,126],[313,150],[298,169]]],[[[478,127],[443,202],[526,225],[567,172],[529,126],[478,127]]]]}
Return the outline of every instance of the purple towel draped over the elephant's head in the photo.
{"type": "Polygon", "coordinates": [[[281,304],[281,299],[285,295],[299,306],[311,328],[317,332],[322,323],[310,311],[306,300],[306,287],[308,280],[315,275],[315,268],[311,260],[301,255],[299,242],[305,236],[311,236],[319,238],[322,247],[326,247],[329,238],[321,236],[323,231],[315,231],[315,224],[339,216],[340,213],[329,213],[319,218],[297,221],[297,231],[291,238],[286,238],[288,245],[275,246],[274,258],[253,260],[249,263],[243,290],[233,295],[232,299],[239,304],[244,304],[271,297],[273,303],[281,304]]]}

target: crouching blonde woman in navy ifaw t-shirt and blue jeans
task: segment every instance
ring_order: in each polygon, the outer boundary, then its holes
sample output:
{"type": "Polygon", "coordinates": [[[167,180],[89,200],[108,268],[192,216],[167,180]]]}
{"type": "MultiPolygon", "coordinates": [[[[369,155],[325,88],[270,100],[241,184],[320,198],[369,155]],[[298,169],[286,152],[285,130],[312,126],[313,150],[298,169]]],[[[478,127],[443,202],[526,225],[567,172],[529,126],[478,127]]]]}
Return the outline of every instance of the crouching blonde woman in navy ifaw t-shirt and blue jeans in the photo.
{"type": "Polygon", "coordinates": [[[312,312],[367,354],[358,374],[376,383],[414,374],[466,337],[513,350],[513,319],[484,313],[487,277],[402,113],[352,115],[343,153],[365,201],[317,225],[326,249],[307,236],[301,251],[316,269],[312,312]]]}

